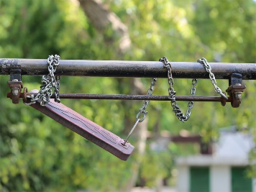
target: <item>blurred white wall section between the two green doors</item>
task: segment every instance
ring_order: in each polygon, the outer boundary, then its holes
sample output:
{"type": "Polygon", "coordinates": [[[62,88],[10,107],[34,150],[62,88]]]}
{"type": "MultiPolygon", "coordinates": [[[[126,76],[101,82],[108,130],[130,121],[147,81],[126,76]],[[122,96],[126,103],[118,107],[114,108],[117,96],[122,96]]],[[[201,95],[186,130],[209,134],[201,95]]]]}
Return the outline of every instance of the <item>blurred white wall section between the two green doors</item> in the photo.
{"type": "Polygon", "coordinates": [[[231,192],[231,173],[229,166],[211,166],[210,188],[211,192],[231,192]]]}

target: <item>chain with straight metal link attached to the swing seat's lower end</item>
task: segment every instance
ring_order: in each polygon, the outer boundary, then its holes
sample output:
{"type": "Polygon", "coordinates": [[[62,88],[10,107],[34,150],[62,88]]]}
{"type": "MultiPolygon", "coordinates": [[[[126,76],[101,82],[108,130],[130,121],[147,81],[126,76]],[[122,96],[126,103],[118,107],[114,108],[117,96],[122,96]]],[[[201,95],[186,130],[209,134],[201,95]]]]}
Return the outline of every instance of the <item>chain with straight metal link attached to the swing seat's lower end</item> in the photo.
{"type": "MultiPolygon", "coordinates": [[[[148,96],[152,96],[152,93],[154,91],[154,86],[155,86],[155,83],[157,81],[157,78],[152,78],[152,81],[151,81],[151,85],[150,85],[150,88],[147,90],[147,95],[148,96]]],[[[146,118],[147,116],[147,111],[146,111],[146,108],[147,108],[147,105],[150,103],[150,100],[145,100],[144,101],[144,104],[142,106],[142,108],[140,108],[140,111],[137,113],[136,115],[136,122],[134,124],[134,126],[132,127],[131,131],[129,132],[127,138],[124,140],[124,143],[122,143],[122,145],[125,146],[125,144],[128,142],[129,140],[129,137],[131,136],[132,132],[134,131],[135,127],[137,126],[137,124],[140,122],[143,122],[144,119],[146,118]],[[142,118],[140,119],[140,115],[143,115],[142,118]]]]}

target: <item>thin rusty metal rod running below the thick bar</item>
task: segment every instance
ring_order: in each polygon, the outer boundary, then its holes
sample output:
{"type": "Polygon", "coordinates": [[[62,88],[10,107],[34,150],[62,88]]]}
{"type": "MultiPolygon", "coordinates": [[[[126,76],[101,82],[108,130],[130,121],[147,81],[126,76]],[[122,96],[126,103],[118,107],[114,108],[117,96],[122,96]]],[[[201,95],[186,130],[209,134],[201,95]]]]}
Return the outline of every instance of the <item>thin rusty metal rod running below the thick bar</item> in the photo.
{"type": "MultiPolygon", "coordinates": [[[[150,100],[150,101],[172,101],[169,96],[150,96],[150,95],[123,95],[123,94],[86,94],[86,93],[60,93],[60,99],[110,99],[110,100],[150,100]]],[[[11,93],[7,93],[7,97],[11,97],[11,93]]],[[[24,97],[24,93],[20,94],[20,98],[24,97]]],[[[52,95],[52,98],[54,96],[52,95]]],[[[220,96],[175,96],[176,101],[214,101],[221,102],[226,99],[220,96]]],[[[226,100],[231,102],[231,98],[226,100]]]]}

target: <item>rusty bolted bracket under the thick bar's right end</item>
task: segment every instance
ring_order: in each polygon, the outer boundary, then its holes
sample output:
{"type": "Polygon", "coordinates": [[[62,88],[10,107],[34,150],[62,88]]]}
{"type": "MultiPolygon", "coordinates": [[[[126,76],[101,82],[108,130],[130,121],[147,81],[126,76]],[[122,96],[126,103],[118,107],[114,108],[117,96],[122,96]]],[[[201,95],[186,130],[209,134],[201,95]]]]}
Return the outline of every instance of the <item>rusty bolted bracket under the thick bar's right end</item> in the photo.
{"type": "Polygon", "coordinates": [[[242,74],[232,73],[232,76],[229,79],[229,87],[226,90],[232,99],[232,107],[237,108],[241,104],[244,88],[246,88],[246,86],[242,85],[242,74]]]}

